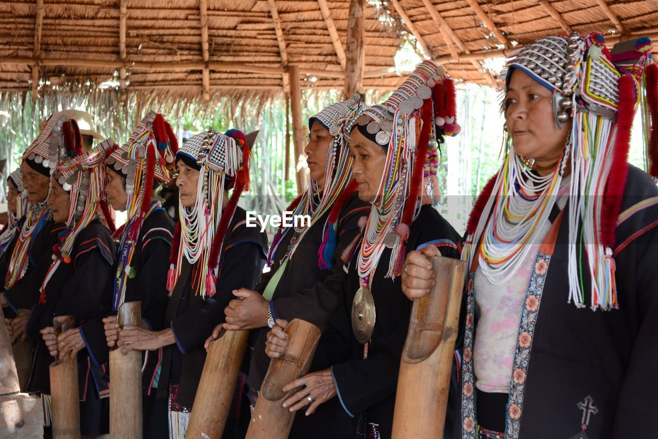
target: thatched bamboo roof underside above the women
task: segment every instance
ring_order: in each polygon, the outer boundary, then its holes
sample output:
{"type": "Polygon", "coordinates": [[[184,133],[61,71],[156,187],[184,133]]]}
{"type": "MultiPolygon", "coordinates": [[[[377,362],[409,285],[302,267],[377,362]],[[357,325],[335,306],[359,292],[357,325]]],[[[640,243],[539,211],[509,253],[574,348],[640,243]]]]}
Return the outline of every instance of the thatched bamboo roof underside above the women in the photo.
{"type": "MultiPolygon", "coordinates": [[[[278,91],[288,87],[291,65],[304,88],[340,90],[349,7],[349,0],[0,1],[0,91],[81,83],[188,96],[278,91]]],[[[492,85],[484,59],[547,34],[658,36],[658,0],[368,0],[365,16],[366,90],[401,82],[393,57],[407,39],[455,78],[492,85]]]]}

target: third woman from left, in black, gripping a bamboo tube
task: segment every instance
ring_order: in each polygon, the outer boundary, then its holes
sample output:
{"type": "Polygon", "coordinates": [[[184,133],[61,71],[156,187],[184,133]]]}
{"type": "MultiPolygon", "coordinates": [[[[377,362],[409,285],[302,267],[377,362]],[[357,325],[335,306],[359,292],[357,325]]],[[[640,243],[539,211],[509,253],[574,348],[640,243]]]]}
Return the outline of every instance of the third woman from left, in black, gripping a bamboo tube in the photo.
{"type": "Polygon", "coordinates": [[[61,315],[72,315],[77,325],[97,315],[102,310],[101,293],[111,276],[114,244],[98,216],[105,197],[105,153],[112,143],[105,140],[87,153],[81,153],[80,145],[76,136],[75,147],[53,161],[57,166],[52,171],[48,203],[53,220],[63,230],[26,327],[28,338],[37,343],[27,390],[41,393],[49,410],[52,357],[77,358],[80,432],[93,436],[109,431],[103,370],[91,363],[80,328],[68,329],[57,338],[52,326],[53,317],[61,315]]]}

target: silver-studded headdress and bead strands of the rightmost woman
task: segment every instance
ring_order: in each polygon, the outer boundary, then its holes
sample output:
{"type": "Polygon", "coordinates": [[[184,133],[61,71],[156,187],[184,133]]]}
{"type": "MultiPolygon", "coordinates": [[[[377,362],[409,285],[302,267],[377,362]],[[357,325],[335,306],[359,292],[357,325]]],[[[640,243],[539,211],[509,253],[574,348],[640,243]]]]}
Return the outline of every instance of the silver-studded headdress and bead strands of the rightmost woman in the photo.
{"type": "MultiPolygon", "coordinates": [[[[615,245],[615,224],[619,215],[628,164],[630,128],[638,100],[644,101],[644,72],[651,70],[651,41],[636,39],[631,47],[628,42],[613,48],[613,55],[605,47],[605,38],[590,33],[584,38],[577,32],[571,36],[553,36],[538,39],[519,49],[508,61],[505,75],[509,84],[511,72],[522,70],[531,78],[553,91],[552,102],[555,123],[571,120],[570,135],[551,180],[538,197],[534,211],[536,217],[527,217],[517,224],[519,230],[527,228],[524,236],[496,240],[495,233],[485,231],[488,214],[507,203],[516,194],[507,192],[511,186],[509,178],[532,178],[532,165],[513,172],[514,163],[520,163],[509,143],[503,169],[494,176],[478,198],[467,224],[467,242],[463,258],[470,261],[472,245],[480,242],[480,267],[490,281],[499,283],[519,269],[532,241],[538,233],[539,224],[547,220],[557,198],[557,190],[563,172],[570,164],[569,181],[569,242],[579,239],[583,246],[571,245],[569,253],[569,301],[577,307],[585,306],[585,292],[582,291],[583,278],[591,279],[590,306],[592,309],[611,309],[619,305],[615,286],[615,261],[612,247],[615,245]],[[583,200],[591,200],[584,203],[583,200]],[[502,203],[502,204],[501,204],[502,203]],[[530,222],[532,221],[532,222],[530,222]],[[494,237],[494,238],[492,238],[494,237]],[[530,238],[529,238],[530,237],[530,238]],[[513,242],[513,245],[509,245],[513,242]],[[515,251],[519,247],[520,251],[515,251]],[[514,255],[509,258],[488,256],[488,249],[510,249],[514,255]],[[584,251],[584,248],[587,251],[584,251]],[[580,262],[586,261],[587,273],[580,269],[580,262]]],[[[655,66],[651,66],[655,68],[655,66]]],[[[655,84],[653,86],[655,88],[655,84]]],[[[653,125],[656,125],[655,120],[653,125]]],[[[655,132],[656,127],[647,124],[647,130],[655,132]]],[[[647,138],[649,136],[647,135],[647,138]]],[[[655,139],[655,136],[654,136],[655,139]]],[[[655,140],[654,140],[655,141],[655,140]]],[[[524,159],[525,160],[525,159],[524,159]]],[[[497,215],[497,214],[496,214],[497,215]]],[[[502,214],[500,214],[502,215],[502,214]]],[[[493,215],[495,216],[495,215],[493,215]]],[[[492,222],[495,219],[492,219],[492,222]]],[[[492,223],[493,224],[493,223],[492,223]]],[[[514,224],[508,224],[514,233],[514,224]]],[[[493,254],[493,253],[492,253],[493,254]]]]}

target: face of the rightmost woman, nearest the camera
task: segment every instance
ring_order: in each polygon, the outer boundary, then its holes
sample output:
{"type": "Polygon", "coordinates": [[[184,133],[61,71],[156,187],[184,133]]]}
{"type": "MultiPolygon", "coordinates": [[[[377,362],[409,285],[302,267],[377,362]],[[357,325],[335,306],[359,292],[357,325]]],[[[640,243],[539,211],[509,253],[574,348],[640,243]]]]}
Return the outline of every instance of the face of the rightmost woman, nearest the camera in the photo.
{"type": "Polygon", "coordinates": [[[545,167],[559,159],[571,121],[558,129],[553,116],[553,93],[524,72],[513,70],[505,97],[507,130],[517,154],[545,167]]]}

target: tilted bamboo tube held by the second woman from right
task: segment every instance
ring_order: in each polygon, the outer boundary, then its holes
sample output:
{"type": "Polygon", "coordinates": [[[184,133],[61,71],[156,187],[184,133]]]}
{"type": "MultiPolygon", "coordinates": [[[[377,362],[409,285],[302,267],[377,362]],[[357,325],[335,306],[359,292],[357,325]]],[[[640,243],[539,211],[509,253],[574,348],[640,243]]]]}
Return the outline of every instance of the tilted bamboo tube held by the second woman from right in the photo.
{"type": "Polygon", "coordinates": [[[295,413],[281,406],[283,401],[299,388],[285,393],[282,389],[289,382],[304,376],[311,367],[315,348],[320,340],[320,329],[315,324],[294,319],[286,327],[290,335],[288,351],[270,361],[246,439],[286,439],[295,413]]]}

